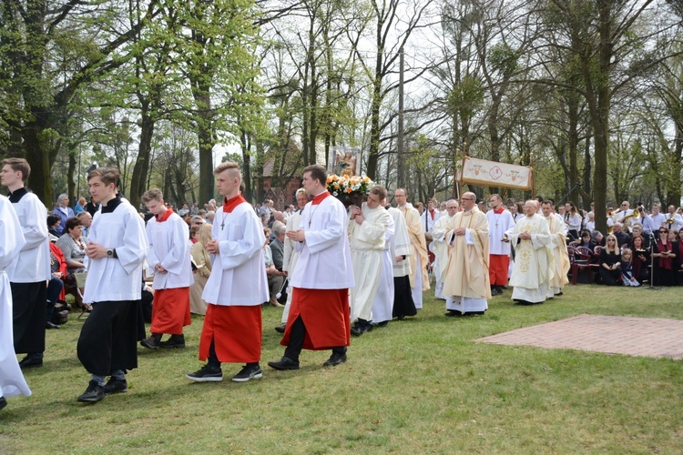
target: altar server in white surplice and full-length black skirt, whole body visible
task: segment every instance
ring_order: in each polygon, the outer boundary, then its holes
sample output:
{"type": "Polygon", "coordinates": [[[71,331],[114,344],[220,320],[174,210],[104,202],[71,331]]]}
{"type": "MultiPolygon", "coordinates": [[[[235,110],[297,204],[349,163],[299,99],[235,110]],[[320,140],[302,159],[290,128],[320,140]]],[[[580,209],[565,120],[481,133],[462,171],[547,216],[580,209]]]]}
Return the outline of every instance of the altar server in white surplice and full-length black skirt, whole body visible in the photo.
{"type": "Polygon", "coordinates": [[[100,204],[86,248],[83,302],[92,304],[93,310],[77,345],[78,359],[92,375],[78,397],[87,403],[126,392],[127,370],[138,368],[138,301],[149,246],[138,210],[117,197],[119,180],[114,167],[100,167],[87,175],[90,194],[100,204]]]}

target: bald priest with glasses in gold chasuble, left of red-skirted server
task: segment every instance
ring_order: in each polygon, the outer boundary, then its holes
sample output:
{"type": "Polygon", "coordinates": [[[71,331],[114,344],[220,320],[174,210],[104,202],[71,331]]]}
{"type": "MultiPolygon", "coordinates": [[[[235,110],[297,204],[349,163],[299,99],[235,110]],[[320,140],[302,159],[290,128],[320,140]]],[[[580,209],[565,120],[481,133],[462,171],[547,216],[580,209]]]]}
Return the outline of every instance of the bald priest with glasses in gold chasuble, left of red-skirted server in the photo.
{"type": "Polygon", "coordinates": [[[476,207],[476,195],[464,193],[462,212],[455,214],[446,234],[448,267],[443,294],[453,298],[446,316],[482,315],[491,299],[489,281],[488,220],[476,207]]]}

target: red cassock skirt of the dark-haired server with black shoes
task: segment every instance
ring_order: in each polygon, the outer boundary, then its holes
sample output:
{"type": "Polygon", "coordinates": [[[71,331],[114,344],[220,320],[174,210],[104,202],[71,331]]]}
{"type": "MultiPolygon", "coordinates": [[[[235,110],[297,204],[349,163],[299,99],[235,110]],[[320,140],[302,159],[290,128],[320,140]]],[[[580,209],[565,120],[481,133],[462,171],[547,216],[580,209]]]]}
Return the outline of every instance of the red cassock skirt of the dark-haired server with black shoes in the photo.
{"type": "Polygon", "coordinates": [[[349,289],[293,288],[282,346],[290,343],[291,325],[300,316],[306,326],[303,349],[323,350],[351,344],[349,289]]]}

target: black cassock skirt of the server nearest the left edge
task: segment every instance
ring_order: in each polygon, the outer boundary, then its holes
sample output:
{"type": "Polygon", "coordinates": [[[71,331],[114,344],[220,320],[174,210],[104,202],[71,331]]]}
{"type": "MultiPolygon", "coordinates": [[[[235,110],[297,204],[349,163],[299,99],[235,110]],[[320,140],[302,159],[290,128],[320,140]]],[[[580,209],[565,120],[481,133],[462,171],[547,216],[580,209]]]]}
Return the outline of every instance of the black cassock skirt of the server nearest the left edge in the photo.
{"type": "Polygon", "coordinates": [[[42,353],[45,351],[46,282],[10,283],[10,288],[15,352],[42,353]]]}

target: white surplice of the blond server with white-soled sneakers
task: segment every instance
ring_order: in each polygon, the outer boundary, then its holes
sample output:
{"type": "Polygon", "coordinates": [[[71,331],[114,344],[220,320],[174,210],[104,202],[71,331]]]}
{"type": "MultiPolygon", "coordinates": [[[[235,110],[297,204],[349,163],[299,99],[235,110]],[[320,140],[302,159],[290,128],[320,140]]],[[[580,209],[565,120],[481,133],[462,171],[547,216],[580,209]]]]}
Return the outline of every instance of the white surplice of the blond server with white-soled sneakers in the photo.
{"type": "Polygon", "coordinates": [[[211,255],[211,275],[201,298],[228,307],[253,307],[267,302],[270,293],[263,257],[266,238],[250,204],[242,202],[230,213],[219,207],[211,233],[219,242],[219,254],[211,255]]]}

